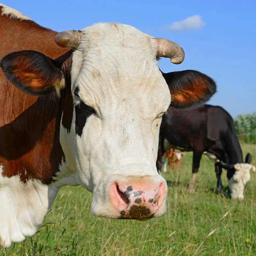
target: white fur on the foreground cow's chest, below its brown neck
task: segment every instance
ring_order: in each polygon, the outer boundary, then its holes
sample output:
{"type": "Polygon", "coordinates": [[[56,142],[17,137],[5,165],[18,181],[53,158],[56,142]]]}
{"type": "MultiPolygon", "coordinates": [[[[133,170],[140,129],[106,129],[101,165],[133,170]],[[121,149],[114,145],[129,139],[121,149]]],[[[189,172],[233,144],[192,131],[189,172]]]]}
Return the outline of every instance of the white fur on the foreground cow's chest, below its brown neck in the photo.
{"type": "Polygon", "coordinates": [[[44,221],[58,189],[39,180],[26,184],[19,176],[3,177],[0,166],[0,245],[9,247],[33,236],[44,221]]]}

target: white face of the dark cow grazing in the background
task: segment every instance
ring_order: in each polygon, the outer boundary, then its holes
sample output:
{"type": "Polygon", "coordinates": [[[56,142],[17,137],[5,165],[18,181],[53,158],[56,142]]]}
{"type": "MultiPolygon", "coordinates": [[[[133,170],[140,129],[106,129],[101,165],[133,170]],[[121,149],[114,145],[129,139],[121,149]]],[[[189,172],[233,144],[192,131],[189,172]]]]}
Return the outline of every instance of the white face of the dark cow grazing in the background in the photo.
{"type": "Polygon", "coordinates": [[[249,163],[236,163],[234,168],[236,172],[228,180],[228,185],[231,191],[231,197],[242,201],[244,199],[244,186],[250,180],[250,169],[253,166],[249,163]]]}

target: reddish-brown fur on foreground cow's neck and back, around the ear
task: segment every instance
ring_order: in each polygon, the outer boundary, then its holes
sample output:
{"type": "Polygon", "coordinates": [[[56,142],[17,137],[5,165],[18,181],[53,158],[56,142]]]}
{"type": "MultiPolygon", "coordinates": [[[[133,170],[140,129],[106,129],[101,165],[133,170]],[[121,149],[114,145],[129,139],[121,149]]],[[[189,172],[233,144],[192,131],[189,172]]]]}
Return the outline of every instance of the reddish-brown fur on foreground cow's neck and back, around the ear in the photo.
{"type": "MultiPolygon", "coordinates": [[[[55,59],[69,50],[55,44],[57,32],[32,20],[0,15],[0,34],[0,59],[21,50],[38,51],[55,59]]],[[[66,61],[62,66],[65,75],[69,64],[66,61]]],[[[23,79],[33,80],[31,72],[23,79]]],[[[64,157],[59,142],[64,100],[65,90],[61,91],[60,98],[54,99],[23,93],[0,70],[0,163],[4,176],[20,175],[23,182],[30,178],[44,184],[52,182],[64,157]]]]}

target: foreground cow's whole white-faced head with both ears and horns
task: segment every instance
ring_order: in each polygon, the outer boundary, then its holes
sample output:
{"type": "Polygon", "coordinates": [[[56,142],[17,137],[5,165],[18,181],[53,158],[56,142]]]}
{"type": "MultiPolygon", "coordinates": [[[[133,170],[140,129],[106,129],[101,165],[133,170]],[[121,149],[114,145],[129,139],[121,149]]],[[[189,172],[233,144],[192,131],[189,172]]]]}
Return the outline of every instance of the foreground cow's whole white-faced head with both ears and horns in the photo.
{"type": "Polygon", "coordinates": [[[157,57],[179,64],[183,49],[131,26],[100,23],[60,32],[55,41],[74,49],[71,85],[62,62],[39,52],[9,54],[2,67],[27,93],[40,96],[65,86],[71,90],[60,127],[65,160],[56,183],[80,184],[93,192],[95,215],[163,215],[167,187],[156,169],[162,115],[171,93],[173,107],[191,107],[206,102],[215,93],[215,83],[186,71],[165,78],[157,57]]]}

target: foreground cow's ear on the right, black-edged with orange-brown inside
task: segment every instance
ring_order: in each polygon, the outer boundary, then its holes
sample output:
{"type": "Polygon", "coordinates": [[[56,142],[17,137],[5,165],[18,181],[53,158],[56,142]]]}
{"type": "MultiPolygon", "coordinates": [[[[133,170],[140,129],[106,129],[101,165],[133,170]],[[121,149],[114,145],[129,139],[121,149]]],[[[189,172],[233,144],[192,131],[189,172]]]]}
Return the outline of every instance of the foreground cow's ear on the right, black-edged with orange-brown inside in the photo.
{"type": "Polygon", "coordinates": [[[172,96],[171,107],[197,108],[206,103],[216,92],[215,82],[195,70],[163,73],[172,96]]]}

